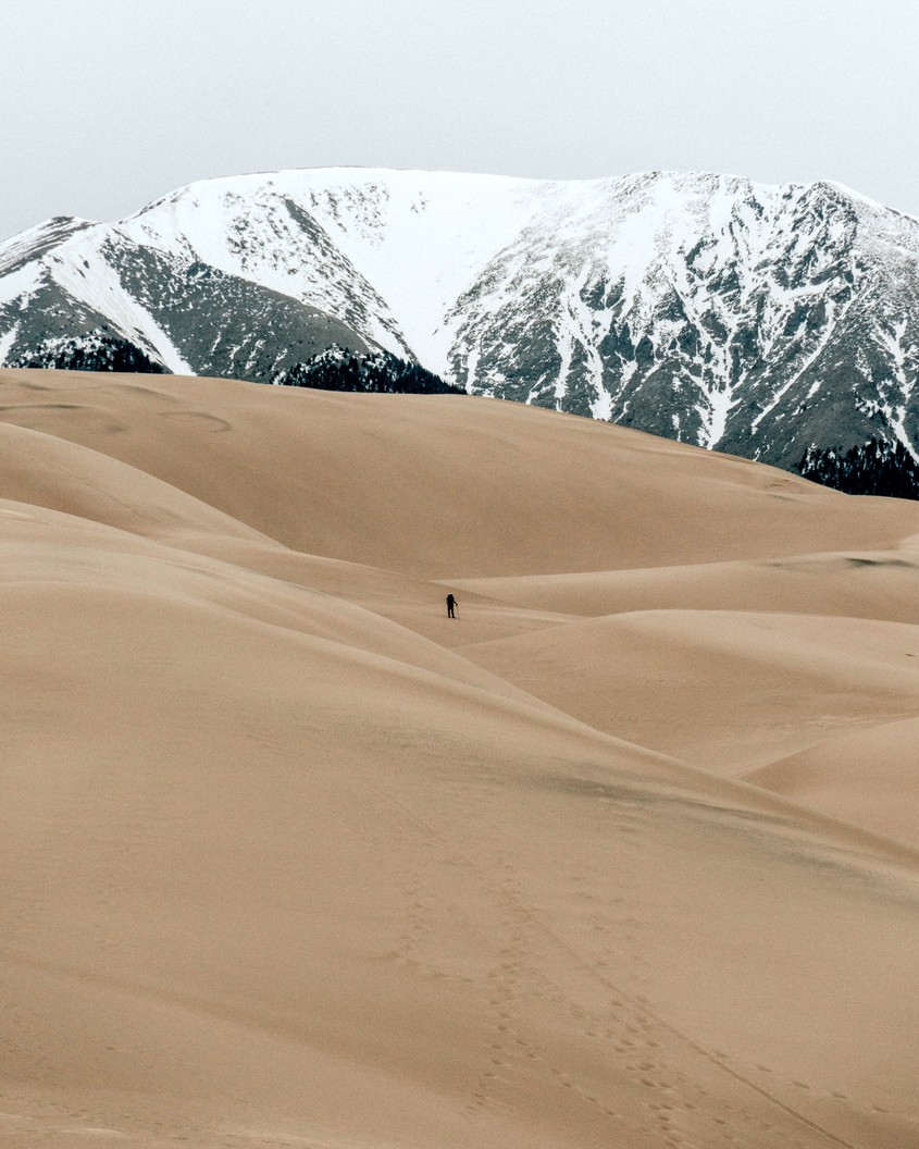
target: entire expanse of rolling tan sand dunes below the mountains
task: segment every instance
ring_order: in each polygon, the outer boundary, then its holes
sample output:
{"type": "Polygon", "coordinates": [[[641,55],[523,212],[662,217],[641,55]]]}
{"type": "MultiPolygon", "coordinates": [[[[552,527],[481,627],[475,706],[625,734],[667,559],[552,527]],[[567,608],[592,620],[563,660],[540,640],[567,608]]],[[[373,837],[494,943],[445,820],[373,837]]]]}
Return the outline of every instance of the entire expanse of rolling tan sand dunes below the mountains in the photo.
{"type": "Polygon", "coordinates": [[[918,506],[453,396],[0,407],[0,1144],[916,1146],[918,506]]]}

